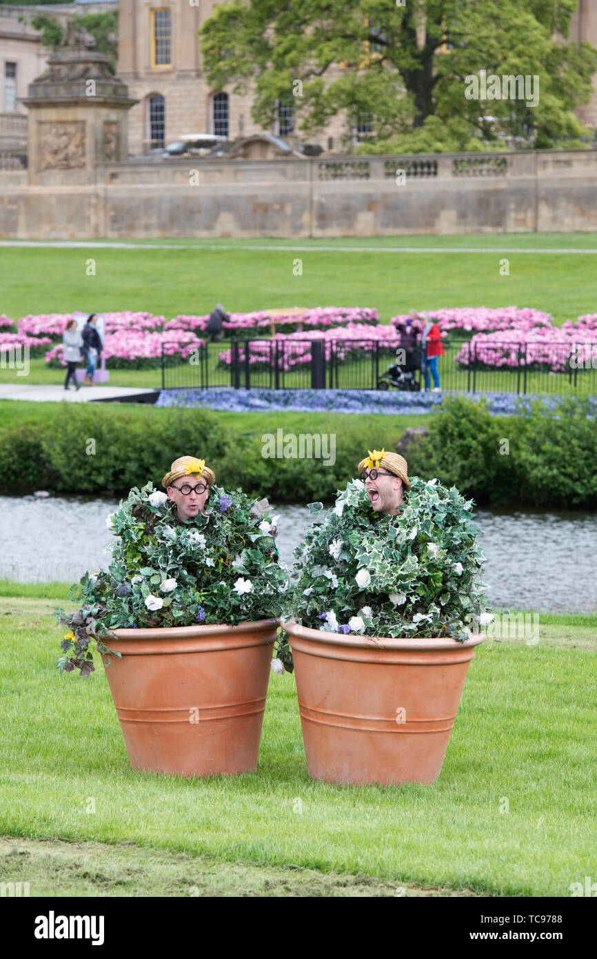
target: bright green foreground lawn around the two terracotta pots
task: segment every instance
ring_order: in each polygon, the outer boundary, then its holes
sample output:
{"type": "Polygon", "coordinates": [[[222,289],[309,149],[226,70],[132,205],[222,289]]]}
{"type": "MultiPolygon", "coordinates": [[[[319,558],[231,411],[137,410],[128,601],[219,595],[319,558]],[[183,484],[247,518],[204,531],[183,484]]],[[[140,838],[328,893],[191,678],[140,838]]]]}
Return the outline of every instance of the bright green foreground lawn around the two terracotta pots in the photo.
{"type": "MultiPolygon", "coordinates": [[[[436,783],[356,788],[310,780],[289,675],[270,678],[256,773],[133,773],[101,665],[89,681],[55,668],[52,600],[0,605],[4,835],[134,842],[210,857],[222,875],[237,862],[293,865],[499,896],[569,896],[595,875],[594,618],[549,618],[534,646],[481,645],[436,783]]],[[[189,895],[188,865],[170,895],[189,895]]]]}

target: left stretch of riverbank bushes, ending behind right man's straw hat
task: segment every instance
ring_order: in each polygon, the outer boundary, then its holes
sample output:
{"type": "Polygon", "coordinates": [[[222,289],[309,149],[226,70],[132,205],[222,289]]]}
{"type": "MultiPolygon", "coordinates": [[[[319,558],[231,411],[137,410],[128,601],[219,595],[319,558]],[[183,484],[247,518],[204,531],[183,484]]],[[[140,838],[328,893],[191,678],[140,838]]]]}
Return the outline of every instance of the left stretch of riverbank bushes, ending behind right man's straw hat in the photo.
{"type": "MultiPolygon", "coordinates": [[[[285,433],[337,429],[333,465],[321,459],[264,458],[264,433],[275,434],[285,423],[284,414],[271,417],[271,426],[247,432],[246,426],[255,423],[250,413],[228,425],[205,409],[61,405],[50,419],[24,421],[18,428],[12,424],[0,432],[0,491],[126,494],[149,479],[158,485],[173,459],[191,453],[213,466],[224,487],[241,486],[248,495],[302,503],[332,498],[355,476],[356,463],[372,448],[371,423],[359,416],[343,422],[341,431],[333,417],[328,416],[325,425],[318,418],[313,426],[306,417],[302,429],[285,425],[285,433]]],[[[389,416],[383,417],[383,428],[376,442],[393,449],[402,429],[397,430],[389,416]]]]}

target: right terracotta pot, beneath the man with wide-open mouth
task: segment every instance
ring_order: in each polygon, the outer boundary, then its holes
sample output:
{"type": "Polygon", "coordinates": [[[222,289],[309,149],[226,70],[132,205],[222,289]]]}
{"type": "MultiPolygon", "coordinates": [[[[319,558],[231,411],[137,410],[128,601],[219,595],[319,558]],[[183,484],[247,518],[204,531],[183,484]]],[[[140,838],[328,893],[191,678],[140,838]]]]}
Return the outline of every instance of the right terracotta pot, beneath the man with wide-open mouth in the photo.
{"type": "Polygon", "coordinates": [[[432,783],[474,646],[327,633],[289,621],[307,768],[327,783],[432,783]]]}

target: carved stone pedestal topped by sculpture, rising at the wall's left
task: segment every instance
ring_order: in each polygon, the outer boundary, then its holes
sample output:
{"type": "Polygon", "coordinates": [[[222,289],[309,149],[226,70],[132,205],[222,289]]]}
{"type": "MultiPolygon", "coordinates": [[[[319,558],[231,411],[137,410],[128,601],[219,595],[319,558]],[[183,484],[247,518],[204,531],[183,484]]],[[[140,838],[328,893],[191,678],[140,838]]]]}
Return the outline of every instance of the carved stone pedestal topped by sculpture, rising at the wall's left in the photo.
{"type": "Polygon", "coordinates": [[[29,84],[29,183],[91,185],[97,168],[126,159],[127,110],[138,103],[95,38],[67,23],[47,71],[29,84]]]}

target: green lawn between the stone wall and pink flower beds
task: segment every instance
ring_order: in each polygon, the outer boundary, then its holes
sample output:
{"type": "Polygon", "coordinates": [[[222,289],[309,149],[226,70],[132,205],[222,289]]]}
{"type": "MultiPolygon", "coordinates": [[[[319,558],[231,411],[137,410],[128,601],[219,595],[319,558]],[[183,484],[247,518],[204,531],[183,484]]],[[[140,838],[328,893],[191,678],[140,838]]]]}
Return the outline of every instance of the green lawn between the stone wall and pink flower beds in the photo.
{"type": "Polygon", "coordinates": [[[218,242],[217,249],[207,248],[211,241],[197,240],[168,241],[170,249],[145,246],[4,247],[0,313],[16,318],[76,309],[147,310],[176,316],[204,314],[221,300],[228,310],[242,312],[295,305],[377,307],[387,322],[412,308],[516,304],[546,310],[561,323],[597,309],[595,254],[541,252],[594,249],[594,234],[238,240],[218,242]],[[195,248],[180,248],[187,244],[195,248]],[[310,249],[294,254],[293,246],[310,249]],[[347,252],[322,246],[368,249],[347,252]],[[380,251],[392,246],[418,251],[380,251]],[[438,251],[436,246],[454,252],[438,251]],[[463,248],[473,252],[458,252],[463,248]],[[487,248],[494,252],[481,252],[487,248]],[[536,252],[514,252],[520,248],[536,252]],[[499,272],[504,255],[510,260],[509,276],[499,272]],[[302,275],[293,272],[296,256],[302,260],[302,275]],[[86,273],[90,258],[95,260],[92,276],[86,273]]]}

